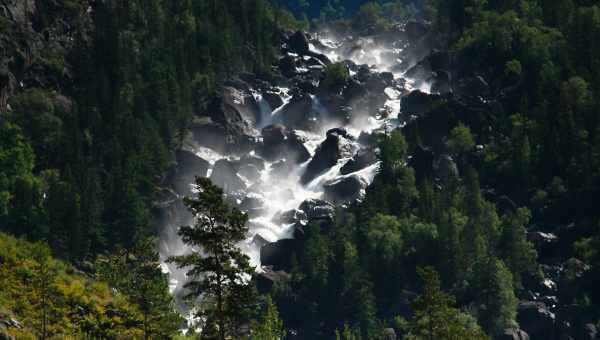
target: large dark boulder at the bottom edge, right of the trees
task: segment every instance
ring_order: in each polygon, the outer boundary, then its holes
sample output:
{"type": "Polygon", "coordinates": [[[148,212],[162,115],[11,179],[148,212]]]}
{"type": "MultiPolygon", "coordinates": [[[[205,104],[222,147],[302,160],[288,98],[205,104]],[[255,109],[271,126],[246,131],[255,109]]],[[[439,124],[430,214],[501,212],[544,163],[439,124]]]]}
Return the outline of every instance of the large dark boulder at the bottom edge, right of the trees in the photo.
{"type": "Polygon", "coordinates": [[[533,339],[553,339],[556,316],[543,302],[519,303],[518,322],[533,339]]]}

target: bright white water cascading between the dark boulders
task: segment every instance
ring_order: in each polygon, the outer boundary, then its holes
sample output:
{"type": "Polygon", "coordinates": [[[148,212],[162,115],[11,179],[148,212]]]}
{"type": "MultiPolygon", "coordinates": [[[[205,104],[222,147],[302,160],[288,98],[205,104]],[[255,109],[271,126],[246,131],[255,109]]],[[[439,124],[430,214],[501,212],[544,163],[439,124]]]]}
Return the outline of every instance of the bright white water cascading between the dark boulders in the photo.
{"type": "MultiPolygon", "coordinates": [[[[342,42],[336,41],[325,35],[319,36],[319,39],[324,46],[328,47],[328,50],[318,50],[313,45],[311,45],[311,49],[314,52],[327,55],[332,61],[351,60],[356,64],[368,64],[372,70],[377,72],[392,72],[395,79],[399,79],[403,76],[402,73],[396,72],[393,69],[394,64],[402,62],[399,58],[401,50],[398,48],[387,48],[385,46],[377,45],[372,39],[366,39],[361,41],[361,49],[352,51],[351,53],[344,53],[343,49],[340,48],[342,42]],[[392,57],[390,59],[390,57],[387,57],[389,55],[397,57],[392,57]]],[[[412,84],[413,82],[408,79],[407,87],[410,87],[412,84]]],[[[421,84],[421,87],[423,87],[423,90],[426,89],[426,86],[423,84],[421,84]]],[[[253,128],[260,130],[265,126],[272,124],[281,113],[282,109],[291,102],[292,96],[289,94],[289,88],[279,87],[278,91],[282,100],[282,105],[279,107],[271,107],[269,102],[265,100],[263,93],[258,90],[252,90],[252,96],[258,104],[260,111],[260,118],[253,128]]],[[[384,107],[380,110],[383,112],[382,114],[369,115],[368,113],[365,113],[361,115],[360,119],[353,118],[346,126],[343,126],[343,128],[348,131],[348,134],[353,137],[347,141],[347,143],[350,144],[348,148],[352,151],[350,153],[351,155],[360,149],[357,140],[361,133],[370,133],[374,130],[386,128],[388,126],[397,126],[395,125],[397,123],[394,123],[393,121],[397,118],[397,114],[400,111],[400,97],[402,92],[401,90],[390,87],[385,89],[385,94],[388,99],[385,102],[384,107]]],[[[314,95],[310,95],[310,98],[312,101],[312,111],[320,115],[326,115],[326,108],[319,102],[319,99],[314,95]]],[[[321,126],[321,128],[327,127],[328,126],[321,126]]],[[[339,126],[331,126],[331,128],[334,127],[339,126]]],[[[326,131],[326,129],[323,129],[323,131],[326,131]]],[[[304,141],[303,144],[308,150],[311,158],[315,155],[318,146],[325,140],[322,131],[296,130],[295,134],[304,141]]],[[[197,156],[209,162],[211,168],[208,170],[208,176],[211,175],[212,166],[214,166],[218,160],[236,160],[236,157],[222,155],[212,149],[198,146],[194,143],[188,143],[186,149],[193,151],[197,156]]],[[[239,159],[239,157],[237,157],[237,159],[239,159]]],[[[264,242],[275,242],[283,238],[293,237],[293,224],[281,225],[274,221],[279,213],[297,209],[302,202],[307,199],[324,198],[324,184],[326,183],[335,183],[336,181],[343,180],[350,176],[356,176],[365,183],[371,183],[373,181],[379,166],[377,162],[355,171],[354,173],[343,175],[340,173],[340,169],[348,160],[349,157],[340,159],[337,164],[312,179],[306,185],[301,183],[300,178],[306,171],[307,164],[310,160],[296,165],[291,170],[284,171],[283,173],[281,173],[281,171],[275,171],[280,165],[278,162],[265,162],[265,168],[260,171],[260,176],[254,179],[245,178],[239,174],[237,175],[243,180],[247,187],[245,196],[251,200],[260,201],[262,206],[258,212],[251,213],[249,220],[250,232],[247,239],[240,244],[240,248],[250,257],[251,263],[256,266],[257,271],[261,270],[260,248],[264,242]]],[[[362,194],[364,194],[364,192],[362,194]]],[[[239,199],[238,203],[241,203],[239,199]]],[[[165,236],[162,238],[160,247],[161,258],[163,260],[169,256],[181,255],[191,251],[176,236],[176,232],[179,225],[190,224],[192,222],[190,216],[187,216],[183,220],[181,218],[173,218],[169,221],[169,225],[164,228],[165,231],[163,234],[165,236]]],[[[163,270],[170,275],[170,287],[172,292],[177,293],[186,280],[184,272],[171,264],[163,264],[162,267],[163,270]]]]}

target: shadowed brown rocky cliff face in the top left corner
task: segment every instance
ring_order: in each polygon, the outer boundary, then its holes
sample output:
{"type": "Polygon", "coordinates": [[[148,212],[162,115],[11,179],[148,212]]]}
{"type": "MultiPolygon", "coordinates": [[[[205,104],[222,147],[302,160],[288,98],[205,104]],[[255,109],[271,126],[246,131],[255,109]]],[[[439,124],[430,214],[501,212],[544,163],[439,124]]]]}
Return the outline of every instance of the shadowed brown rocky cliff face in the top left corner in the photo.
{"type": "Polygon", "coordinates": [[[0,111],[14,93],[33,87],[67,92],[78,53],[90,42],[91,8],[86,2],[0,2],[0,111]],[[76,46],[79,44],[79,46],[76,46]]]}

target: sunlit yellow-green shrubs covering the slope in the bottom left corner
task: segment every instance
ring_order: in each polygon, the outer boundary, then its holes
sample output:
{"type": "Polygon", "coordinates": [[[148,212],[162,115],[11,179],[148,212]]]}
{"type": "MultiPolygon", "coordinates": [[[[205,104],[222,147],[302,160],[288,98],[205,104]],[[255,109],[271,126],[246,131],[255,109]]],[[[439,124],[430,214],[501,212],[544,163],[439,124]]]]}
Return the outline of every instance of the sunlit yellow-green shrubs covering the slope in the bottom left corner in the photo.
{"type": "Polygon", "coordinates": [[[0,233],[0,285],[0,310],[24,325],[9,330],[18,339],[142,338],[137,305],[54,260],[42,243],[0,233]]]}

